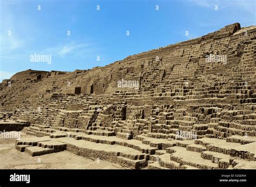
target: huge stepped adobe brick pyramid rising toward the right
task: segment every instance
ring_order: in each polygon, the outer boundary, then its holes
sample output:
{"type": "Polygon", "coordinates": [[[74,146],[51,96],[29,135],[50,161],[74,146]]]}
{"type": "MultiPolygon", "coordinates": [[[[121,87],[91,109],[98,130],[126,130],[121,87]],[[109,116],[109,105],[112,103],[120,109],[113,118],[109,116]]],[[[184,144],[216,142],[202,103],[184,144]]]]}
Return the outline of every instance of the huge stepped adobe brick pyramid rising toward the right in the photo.
{"type": "Polygon", "coordinates": [[[235,23],[105,67],[22,71],[0,84],[0,123],[35,135],[16,142],[32,156],[256,169],[255,47],[256,26],[235,23]]]}

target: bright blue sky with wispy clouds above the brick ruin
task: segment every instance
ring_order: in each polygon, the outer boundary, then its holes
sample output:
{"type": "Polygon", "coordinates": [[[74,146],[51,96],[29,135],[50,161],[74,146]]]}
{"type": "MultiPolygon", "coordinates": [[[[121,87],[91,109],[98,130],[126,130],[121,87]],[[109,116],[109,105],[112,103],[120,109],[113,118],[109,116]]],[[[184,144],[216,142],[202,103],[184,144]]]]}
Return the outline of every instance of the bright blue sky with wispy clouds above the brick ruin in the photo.
{"type": "Polygon", "coordinates": [[[0,2],[1,82],[26,69],[73,71],[105,66],[236,22],[256,25],[255,0],[0,2]],[[51,55],[51,63],[30,62],[35,53],[51,55]]]}

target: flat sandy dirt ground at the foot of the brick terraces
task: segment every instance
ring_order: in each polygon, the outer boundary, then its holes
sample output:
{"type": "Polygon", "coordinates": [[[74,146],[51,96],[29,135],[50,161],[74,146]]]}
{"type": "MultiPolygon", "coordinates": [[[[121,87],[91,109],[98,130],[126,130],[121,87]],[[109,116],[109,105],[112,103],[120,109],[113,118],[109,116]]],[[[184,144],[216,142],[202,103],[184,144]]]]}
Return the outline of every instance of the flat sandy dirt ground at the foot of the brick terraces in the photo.
{"type": "MultiPolygon", "coordinates": [[[[21,138],[35,137],[21,132],[21,138]]],[[[0,138],[0,169],[124,169],[118,164],[95,161],[68,150],[41,156],[30,156],[15,149],[16,139],[0,138]]]]}

